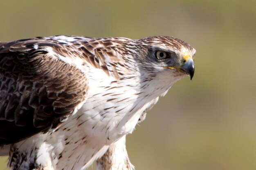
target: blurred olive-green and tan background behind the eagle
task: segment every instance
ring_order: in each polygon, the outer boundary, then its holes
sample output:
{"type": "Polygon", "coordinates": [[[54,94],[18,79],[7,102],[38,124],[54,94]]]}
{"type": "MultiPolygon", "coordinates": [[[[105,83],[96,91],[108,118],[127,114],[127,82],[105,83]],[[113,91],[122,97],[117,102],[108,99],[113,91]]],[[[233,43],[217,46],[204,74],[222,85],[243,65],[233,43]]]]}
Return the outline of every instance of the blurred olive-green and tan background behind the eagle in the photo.
{"type": "Polygon", "coordinates": [[[137,170],[256,169],[255,0],[1,0],[0,18],[0,41],[63,34],[188,42],[197,49],[193,81],[173,85],[128,135],[131,162],[137,170]]]}

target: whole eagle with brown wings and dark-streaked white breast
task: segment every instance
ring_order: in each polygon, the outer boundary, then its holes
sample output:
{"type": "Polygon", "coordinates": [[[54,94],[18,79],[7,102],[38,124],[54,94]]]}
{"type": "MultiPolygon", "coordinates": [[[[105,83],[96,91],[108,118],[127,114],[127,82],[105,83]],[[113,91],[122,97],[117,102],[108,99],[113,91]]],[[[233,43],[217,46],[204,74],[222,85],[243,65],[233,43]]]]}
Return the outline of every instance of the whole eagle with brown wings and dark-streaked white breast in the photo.
{"type": "Polygon", "coordinates": [[[126,135],[193,78],[195,53],[171,36],[0,42],[0,156],[11,170],[134,169],[126,135]]]}

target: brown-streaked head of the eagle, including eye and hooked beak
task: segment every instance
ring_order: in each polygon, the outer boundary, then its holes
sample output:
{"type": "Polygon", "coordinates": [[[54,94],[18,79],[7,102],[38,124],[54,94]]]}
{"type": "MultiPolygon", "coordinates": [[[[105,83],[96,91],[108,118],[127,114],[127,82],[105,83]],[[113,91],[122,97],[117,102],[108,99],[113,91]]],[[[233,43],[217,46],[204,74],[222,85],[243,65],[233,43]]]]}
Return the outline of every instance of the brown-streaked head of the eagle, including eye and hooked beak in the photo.
{"type": "Polygon", "coordinates": [[[195,49],[186,42],[168,36],[153,36],[136,40],[139,44],[140,69],[164,78],[178,79],[189,75],[193,78],[195,49]],[[171,75],[170,75],[171,74],[171,75]]]}

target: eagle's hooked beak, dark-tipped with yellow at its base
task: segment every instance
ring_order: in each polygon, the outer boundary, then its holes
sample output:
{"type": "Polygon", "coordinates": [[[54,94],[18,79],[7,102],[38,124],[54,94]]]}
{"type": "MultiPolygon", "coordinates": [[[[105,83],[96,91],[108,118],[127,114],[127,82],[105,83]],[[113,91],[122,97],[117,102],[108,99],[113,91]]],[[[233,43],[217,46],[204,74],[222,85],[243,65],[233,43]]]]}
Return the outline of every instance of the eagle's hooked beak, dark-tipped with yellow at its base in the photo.
{"type": "Polygon", "coordinates": [[[183,56],[183,60],[184,60],[184,65],[182,65],[182,67],[180,68],[183,69],[185,72],[189,73],[190,80],[192,80],[195,72],[195,64],[194,64],[193,58],[188,53],[185,53],[183,56]]]}

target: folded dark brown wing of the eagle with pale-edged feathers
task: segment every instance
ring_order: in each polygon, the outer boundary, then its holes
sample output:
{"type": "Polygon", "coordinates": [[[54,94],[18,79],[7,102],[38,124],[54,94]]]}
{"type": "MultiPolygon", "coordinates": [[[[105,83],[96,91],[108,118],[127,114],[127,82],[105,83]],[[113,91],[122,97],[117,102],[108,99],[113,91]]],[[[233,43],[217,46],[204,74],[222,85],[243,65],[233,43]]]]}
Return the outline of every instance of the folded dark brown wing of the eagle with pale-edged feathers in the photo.
{"type": "Polygon", "coordinates": [[[56,128],[85,102],[88,79],[67,48],[43,38],[0,42],[0,145],[56,128]]]}

